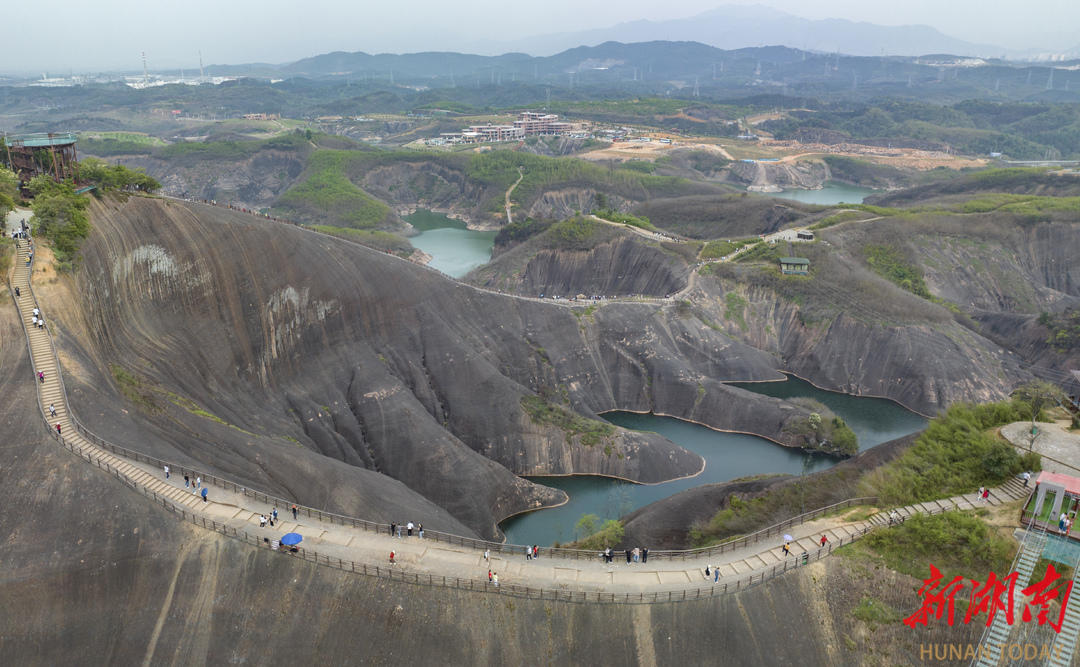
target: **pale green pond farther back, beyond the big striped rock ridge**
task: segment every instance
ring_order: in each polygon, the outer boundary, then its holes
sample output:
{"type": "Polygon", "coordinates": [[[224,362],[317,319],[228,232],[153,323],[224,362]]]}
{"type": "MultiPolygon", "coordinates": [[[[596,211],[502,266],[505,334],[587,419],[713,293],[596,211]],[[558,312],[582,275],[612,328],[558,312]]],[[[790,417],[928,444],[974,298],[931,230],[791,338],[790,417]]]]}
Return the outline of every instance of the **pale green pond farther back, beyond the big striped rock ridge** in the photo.
{"type": "Polygon", "coordinates": [[[477,232],[461,220],[422,208],[404,216],[420,233],[409,239],[414,246],[431,255],[429,266],[447,275],[461,277],[491,259],[498,232],[477,232]]]}

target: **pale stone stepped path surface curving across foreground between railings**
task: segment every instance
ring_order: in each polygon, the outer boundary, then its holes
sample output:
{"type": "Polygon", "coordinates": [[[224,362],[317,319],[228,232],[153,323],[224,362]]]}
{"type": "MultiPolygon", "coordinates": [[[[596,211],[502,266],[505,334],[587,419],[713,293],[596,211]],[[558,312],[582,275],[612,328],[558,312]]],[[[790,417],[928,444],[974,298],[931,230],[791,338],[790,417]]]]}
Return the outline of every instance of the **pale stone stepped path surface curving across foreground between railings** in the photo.
{"type": "MultiPolygon", "coordinates": [[[[389,553],[394,549],[397,553],[397,570],[395,570],[397,572],[408,570],[447,578],[472,581],[480,578],[486,582],[487,571],[491,569],[503,577],[502,581],[509,578],[523,587],[528,585],[538,588],[635,593],[686,591],[698,588],[700,591],[706,566],[719,569],[720,582],[745,581],[748,576],[753,577],[762,572],[775,574],[788,567],[797,567],[804,553],[812,555],[816,560],[831,553],[834,546],[850,543],[870,530],[888,525],[888,516],[885,513],[859,521],[842,521],[837,517],[831,517],[791,527],[787,532],[793,540],[789,544],[791,553],[787,555],[783,553],[783,536],[777,535],[725,554],[687,555],[677,559],[653,558],[647,563],[633,564],[626,564],[624,558],[618,557],[612,563],[604,563],[598,556],[593,559],[527,560],[524,556],[507,554],[492,554],[490,561],[486,561],[478,549],[453,546],[445,542],[418,537],[396,539],[351,526],[328,525],[315,517],[301,516],[294,520],[285,505],[276,506],[280,514],[276,526],[261,528],[260,515],[269,514],[274,507],[244,493],[219,487],[211,488],[207,499],[203,500],[198,492],[184,487],[183,475],[173,474],[170,479],[165,479],[161,468],[106,451],[73,427],[58,359],[48,330],[48,317],[45,327],[35,327],[31,324],[32,311],[38,304],[30,288],[30,267],[26,262],[27,242],[23,241],[21,246],[12,272],[12,288],[18,287],[22,292],[16,299],[16,305],[26,327],[35,373],[44,373],[44,381],[38,384],[38,393],[40,407],[50,426],[55,430],[58,424],[59,435],[69,448],[81,452],[83,458],[96,462],[99,466],[111,468],[117,477],[126,480],[144,494],[171,503],[175,509],[188,513],[184,516],[194,519],[197,523],[202,520],[205,526],[207,521],[212,521],[218,532],[244,535],[242,539],[252,543],[269,544],[284,533],[295,531],[305,536],[305,549],[315,553],[315,557],[310,559],[330,564],[333,558],[338,561],[338,566],[342,562],[352,562],[353,569],[355,563],[363,563],[381,567],[384,570],[389,566],[389,553]],[[51,407],[55,410],[55,414],[52,413],[51,407]],[[225,530],[217,528],[219,526],[225,527],[225,530]],[[822,546],[822,535],[826,539],[825,546],[822,546]]],[[[1020,480],[1012,479],[997,489],[991,489],[988,504],[999,505],[1010,502],[1025,496],[1027,492],[1020,480]]],[[[972,509],[981,505],[982,501],[976,500],[972,493],[897,508],[897,513],[908,517],[919,513],[940,514],[956,509],[972,509]]],[[[711,582],[706,585],[708,583],[711,582]]]]}

